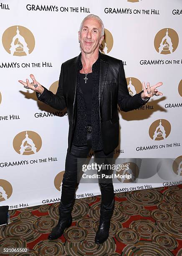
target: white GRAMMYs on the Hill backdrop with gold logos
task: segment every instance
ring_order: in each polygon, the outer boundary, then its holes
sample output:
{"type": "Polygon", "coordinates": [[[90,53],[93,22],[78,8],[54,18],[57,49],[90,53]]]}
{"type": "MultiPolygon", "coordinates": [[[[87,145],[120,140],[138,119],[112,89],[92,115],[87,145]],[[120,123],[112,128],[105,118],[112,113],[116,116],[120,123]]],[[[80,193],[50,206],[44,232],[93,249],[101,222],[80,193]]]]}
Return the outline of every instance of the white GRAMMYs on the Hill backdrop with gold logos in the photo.
{"type": "MultiPolygon", "coordinates": [[[[143,81],[163,82],[158,88],[163,96],[152,97],[130,112],[118,108],[120,142],[114,158],[130,167],[117,170],[121,176],[115,179],[114,191],[182,183],[182,1],[3,0],[0,205],[15,209],[60,201],[68,147],[67,111],[38,101],[18,80],[30,81],[34,74],[56,93],[61,64],[80,53],[78,30],[91,13],[104,22],[100,51],[123,61],[131,95],[142,90],[143,81]],[[131,179],[124,179],[125,174],[131,179]]],[[[89,157],[93,159],[93,152],[89,157]]],[[[100,194],[98,182],[91,180],[80,182],[76,190],[76,198],[100,194]]],[[[141,200],[146,195],[137,194],[141,200]]]]}

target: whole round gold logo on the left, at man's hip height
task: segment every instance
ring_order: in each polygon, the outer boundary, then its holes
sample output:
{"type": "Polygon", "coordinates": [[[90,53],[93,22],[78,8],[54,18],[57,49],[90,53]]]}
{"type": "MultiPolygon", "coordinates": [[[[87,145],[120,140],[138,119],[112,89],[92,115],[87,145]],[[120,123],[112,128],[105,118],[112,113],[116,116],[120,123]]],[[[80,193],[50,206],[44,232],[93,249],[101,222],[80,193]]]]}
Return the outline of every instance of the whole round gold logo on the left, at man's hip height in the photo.
{"type": "Polygon", "coordinates": [[[42,139],[34,131],[23,131],[13,139],[13,148],[20,155],[36,154],[42,146],[42,139]]]}

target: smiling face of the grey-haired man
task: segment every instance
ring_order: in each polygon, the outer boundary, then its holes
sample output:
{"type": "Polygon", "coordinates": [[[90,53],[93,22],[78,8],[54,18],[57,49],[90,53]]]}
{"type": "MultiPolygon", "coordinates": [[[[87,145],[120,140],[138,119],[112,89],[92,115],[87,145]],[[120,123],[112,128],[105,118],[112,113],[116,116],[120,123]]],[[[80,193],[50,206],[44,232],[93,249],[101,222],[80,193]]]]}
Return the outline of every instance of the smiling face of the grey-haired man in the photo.
{"type": "Polygon", "coordinates": [[[101,44],[104,36],[101,37],[101,24],[95,18],[88,18],[84,20],[81,31],[78,32],[78,37],[81,44],[81,49],[90,54],[101,44]]]}

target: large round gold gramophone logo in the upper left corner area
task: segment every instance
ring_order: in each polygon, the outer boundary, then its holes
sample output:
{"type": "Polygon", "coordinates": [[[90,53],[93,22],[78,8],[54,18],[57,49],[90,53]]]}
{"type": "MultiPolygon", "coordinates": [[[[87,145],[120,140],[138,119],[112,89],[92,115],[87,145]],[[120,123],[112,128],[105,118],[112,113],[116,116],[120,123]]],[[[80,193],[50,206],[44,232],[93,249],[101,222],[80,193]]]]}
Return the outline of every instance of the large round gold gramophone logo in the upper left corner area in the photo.
{"type": "Polygon", "coordinates": [[[7,28],[2,36],[4,49],[13,56],[29,55],[35,47],[33,33],[23,26],[7,28]]]}

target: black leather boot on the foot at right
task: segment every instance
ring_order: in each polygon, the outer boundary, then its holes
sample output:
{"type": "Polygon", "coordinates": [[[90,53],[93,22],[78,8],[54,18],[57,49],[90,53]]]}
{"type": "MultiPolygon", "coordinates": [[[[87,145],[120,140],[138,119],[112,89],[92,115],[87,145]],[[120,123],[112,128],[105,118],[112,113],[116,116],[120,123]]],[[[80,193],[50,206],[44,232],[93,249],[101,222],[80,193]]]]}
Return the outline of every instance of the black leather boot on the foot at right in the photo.
{"type": "Polygon", "coordinates": [[[113,214],[113,210],[106,211],[103,209],[101,204],[101,215],[99,221],[99,229],[96,232],[95,243],[101,244],[104,243],[107,238],[109,237],[109,228],[110,228],[110,221],[113,214]]]}

